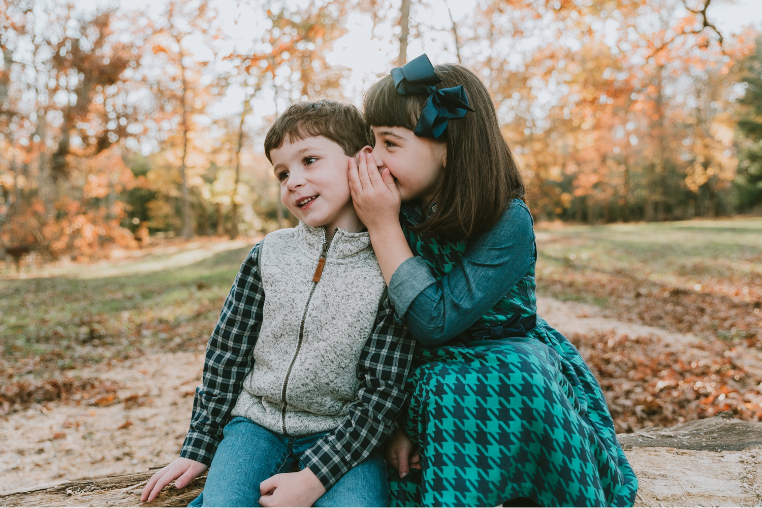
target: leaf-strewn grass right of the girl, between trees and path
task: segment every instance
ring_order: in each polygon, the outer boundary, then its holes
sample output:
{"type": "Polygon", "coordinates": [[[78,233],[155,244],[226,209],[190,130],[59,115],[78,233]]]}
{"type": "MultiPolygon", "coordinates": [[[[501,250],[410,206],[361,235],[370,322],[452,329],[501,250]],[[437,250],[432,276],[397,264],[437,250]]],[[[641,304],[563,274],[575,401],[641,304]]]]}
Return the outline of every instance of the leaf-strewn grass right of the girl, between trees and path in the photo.
{"type": "Polygon", "coordinates": [[[725,340],[762,341],[762,219],[538,228],[541,295],[725,340]]]}

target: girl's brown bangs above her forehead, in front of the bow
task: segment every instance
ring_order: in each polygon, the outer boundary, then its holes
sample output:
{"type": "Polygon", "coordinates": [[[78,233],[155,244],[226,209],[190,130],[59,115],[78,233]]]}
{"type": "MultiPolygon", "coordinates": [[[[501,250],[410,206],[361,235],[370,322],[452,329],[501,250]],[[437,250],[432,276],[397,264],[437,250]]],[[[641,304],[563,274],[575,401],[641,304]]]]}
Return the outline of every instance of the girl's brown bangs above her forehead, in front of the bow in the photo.
{"type": "Polygon", "coordinates": [[[415,130],[425,99],[425,96],[398,94],[392,76],[387,75],[376,81],[363,97],[365,121],[370,126],[415,130]]]}

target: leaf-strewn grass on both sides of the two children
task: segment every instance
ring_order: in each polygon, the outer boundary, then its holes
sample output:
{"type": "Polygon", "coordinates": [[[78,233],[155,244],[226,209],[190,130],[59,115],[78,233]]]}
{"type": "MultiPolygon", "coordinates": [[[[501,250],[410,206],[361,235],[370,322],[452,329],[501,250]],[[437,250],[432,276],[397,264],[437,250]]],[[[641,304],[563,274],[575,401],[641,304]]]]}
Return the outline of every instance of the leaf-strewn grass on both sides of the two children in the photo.
{"type": "MultiPolygon", "coordinates": [[[[762,219],[538,227],[537,244],[540,295],[762,347],[762,219]]],[[[199,242],[0,280],[0,399],[34,379],[65,392],[50,380],[92,363],[203,350],[250,248],[199,242]]]]}

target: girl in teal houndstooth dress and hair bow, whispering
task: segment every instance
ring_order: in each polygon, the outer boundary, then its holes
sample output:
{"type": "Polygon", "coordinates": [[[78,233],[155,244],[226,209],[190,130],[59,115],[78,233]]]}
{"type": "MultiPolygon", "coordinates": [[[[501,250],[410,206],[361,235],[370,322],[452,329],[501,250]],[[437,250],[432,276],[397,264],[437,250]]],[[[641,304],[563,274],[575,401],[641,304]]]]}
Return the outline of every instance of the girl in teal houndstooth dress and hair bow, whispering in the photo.
{"type": "Polygon", "coordinates": [[[532,216],[482,82],[423,55],[364,107],[376,145],[350,161],[354,206],[418,340],[390,506],[632,506],[600,386],[536,316],[532,216]]]}

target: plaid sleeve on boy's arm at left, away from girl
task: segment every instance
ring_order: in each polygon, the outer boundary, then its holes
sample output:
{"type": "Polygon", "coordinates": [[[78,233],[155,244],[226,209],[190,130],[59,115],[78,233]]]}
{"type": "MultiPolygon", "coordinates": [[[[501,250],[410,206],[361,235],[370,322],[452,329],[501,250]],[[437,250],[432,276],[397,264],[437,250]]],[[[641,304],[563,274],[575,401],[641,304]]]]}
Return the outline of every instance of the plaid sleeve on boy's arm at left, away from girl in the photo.
{"type": "Polygon", "coordinates": [[[259,273],[261,242],[241,265],[223,311],[207,343],[203,382],[196,388],[191,428],[185,436],[181,457],[210,465],[223,427],[241,393],[246,375],[254,365],[253,350],[259,337],[264,307],[264,288],[259,273]]]}

